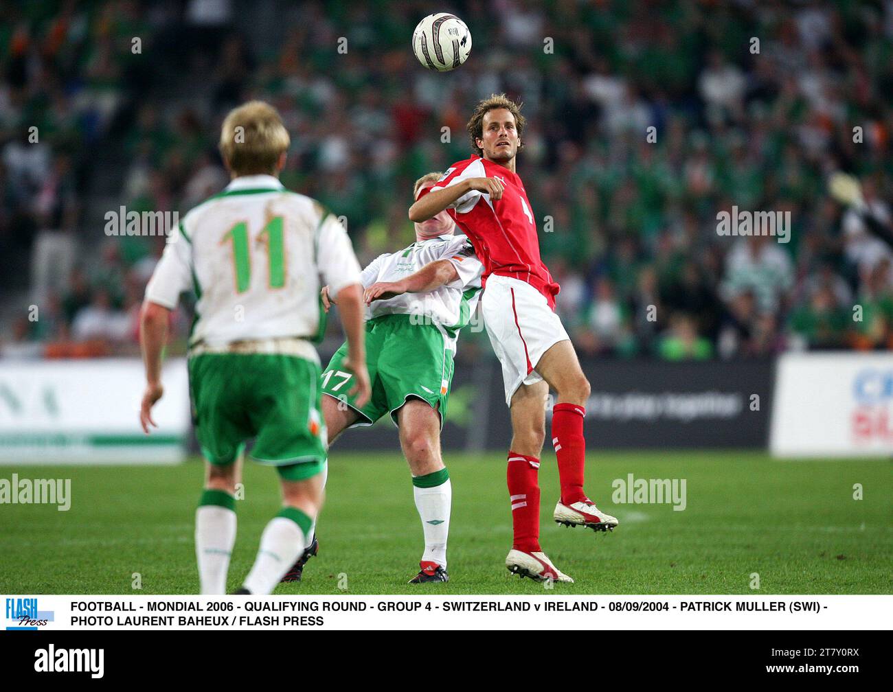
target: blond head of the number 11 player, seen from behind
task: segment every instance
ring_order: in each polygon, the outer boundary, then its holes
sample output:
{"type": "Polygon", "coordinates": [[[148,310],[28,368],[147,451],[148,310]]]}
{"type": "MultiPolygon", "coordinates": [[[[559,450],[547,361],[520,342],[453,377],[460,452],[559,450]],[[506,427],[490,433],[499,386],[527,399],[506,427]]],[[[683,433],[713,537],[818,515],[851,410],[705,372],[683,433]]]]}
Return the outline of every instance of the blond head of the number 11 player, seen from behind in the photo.
{"type": "Polygon", "coordinates": [[[275,108],[249,101],[231,110],[223,121],[220,151],[236,175],[275,174],[290,141],[275,108]]]}

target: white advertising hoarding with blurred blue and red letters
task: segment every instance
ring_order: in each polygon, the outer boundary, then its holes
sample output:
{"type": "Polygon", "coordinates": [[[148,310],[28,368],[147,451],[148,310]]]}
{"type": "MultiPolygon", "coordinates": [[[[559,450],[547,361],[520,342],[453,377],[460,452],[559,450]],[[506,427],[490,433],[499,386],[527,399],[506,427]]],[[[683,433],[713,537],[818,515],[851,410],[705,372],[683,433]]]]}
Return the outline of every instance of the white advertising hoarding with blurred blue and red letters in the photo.
{"type": "Polygon", "coordinates": [[[893,354],[784,354],[769,447],[776,456],[893,455],[893,354]]]}

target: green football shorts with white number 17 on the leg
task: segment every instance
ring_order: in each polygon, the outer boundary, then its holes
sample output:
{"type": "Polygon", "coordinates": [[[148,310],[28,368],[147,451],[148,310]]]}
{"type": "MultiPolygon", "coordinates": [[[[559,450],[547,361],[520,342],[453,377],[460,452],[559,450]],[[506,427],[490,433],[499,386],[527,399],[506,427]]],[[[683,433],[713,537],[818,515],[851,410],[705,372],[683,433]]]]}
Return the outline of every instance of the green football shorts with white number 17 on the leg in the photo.
{"type": "Polygon", "coordinates": [[[342,345],[322,372],[322,393],[341,399],[360,420],[351,427],[371,425],[385,413],[396,425],[396,410],[410,396],[427,401],[440,413],[443,428],[447,398],[453,382],[453,351],[446,335],[430,323],[413,324],[408,314],[382,315],[366,322],[366,365],[372,396],[363,408],[354,405],[348,392],[354,376],[343,363],[347,345],[342,345]]]}

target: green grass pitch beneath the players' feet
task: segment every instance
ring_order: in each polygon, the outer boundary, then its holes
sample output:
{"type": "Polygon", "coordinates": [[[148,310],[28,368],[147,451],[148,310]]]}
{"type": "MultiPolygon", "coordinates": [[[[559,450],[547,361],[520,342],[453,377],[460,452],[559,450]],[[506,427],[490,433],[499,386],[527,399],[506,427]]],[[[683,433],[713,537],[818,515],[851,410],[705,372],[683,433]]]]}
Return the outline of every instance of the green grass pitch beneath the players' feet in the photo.
{"type": "MultiPolygon", "coordinates": [[[[505,570],[512,529],[500,454],[447,454],[453,481],[447,584],[411,586],[421,525],[398,453],[333,450],[320,555],[277,594],[541,594],[505,570]]],[[[0,478],[71,478],[71,509],[0,504],[0,593],[191,594],[198,579],[196,461],[174,467],[0,467],[0,478]],[[142,590],[131,588],[138,572],[142,590]]],[[[772,461],[751,452],[598,453],[587,488],[620,527],[566,529],[552,520],[554,454],[539,470],[541,544],[576,583],[561,594],[855,594],[893,591],[893,474],[887,461],[772,461]],[[613,479],[687,479],[688,506],[613,504],[613,479]],[[855,483],[864,499],[853,498],[855,483]],[[760,588],[750,588],[759,573],[760,588]]],[[[279,509],[275,471],[245,469],[229,588],[254,561],[279,509]]]]}

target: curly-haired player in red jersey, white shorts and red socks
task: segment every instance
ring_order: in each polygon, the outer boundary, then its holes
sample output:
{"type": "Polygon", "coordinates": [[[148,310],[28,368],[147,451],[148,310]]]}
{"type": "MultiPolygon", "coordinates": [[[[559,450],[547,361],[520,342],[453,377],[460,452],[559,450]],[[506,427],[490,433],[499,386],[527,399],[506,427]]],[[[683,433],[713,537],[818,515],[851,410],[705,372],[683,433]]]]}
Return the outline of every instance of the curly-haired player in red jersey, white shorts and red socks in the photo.
{"type": "Polygon", "coordinates": [[[617,526],[617,520],[600,512],[583,491],[589,383],[555,314],[559,287],[539,257],[537,224],[515,173],[523,128],[521,107],[505,95],[481,101],[467,125],[476,154],[454,163],[419,196],[409,218],[426,221],[447,209],[484,265],[480,309],[502,363],[505,402],[512,415],[507,478],[514,541],[505,566],[532,579],[572,582],[539,546],[537,470],[549,387],[557,394],[552,444],[561,479],[555,521],[604,530],[617,526]]]}

